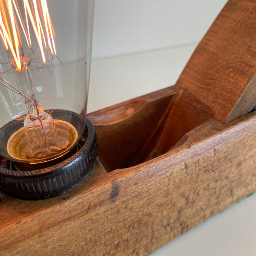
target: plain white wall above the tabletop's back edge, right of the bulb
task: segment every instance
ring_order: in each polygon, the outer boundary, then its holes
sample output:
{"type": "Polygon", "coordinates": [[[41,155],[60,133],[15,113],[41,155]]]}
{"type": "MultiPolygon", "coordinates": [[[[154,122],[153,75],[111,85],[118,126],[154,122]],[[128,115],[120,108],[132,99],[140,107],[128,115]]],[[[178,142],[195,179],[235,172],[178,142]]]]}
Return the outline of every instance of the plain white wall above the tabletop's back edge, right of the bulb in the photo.
{"type": "Polygon", "coordinates": [[[227,0],[96,0],[93,59],[199,42],[227,0]]]}

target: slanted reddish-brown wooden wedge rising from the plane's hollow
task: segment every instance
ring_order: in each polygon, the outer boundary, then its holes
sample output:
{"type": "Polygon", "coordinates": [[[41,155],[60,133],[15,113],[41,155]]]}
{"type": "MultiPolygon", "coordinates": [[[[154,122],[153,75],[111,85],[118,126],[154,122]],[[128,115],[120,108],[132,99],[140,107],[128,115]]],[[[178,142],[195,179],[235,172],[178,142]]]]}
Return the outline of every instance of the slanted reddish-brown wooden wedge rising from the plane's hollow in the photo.
{"type": "Polygon", "coordinates": [[[207,120],[228,122],[254,107],[255,24],[255,0],[230,0],[224,6],[175,84],[180,97],[157,143],[162,153],[207,120]]]}

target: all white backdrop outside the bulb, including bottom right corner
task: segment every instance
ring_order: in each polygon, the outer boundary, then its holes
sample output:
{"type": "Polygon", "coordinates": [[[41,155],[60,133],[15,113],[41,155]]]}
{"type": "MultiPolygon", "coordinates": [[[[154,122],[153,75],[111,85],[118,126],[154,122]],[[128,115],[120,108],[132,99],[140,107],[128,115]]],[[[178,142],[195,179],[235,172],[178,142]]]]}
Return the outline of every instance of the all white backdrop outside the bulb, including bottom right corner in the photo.
{"type": "MultiPolygon", "coordinates": [[[[88,113],[175,84],[226,0],[96,0],[88,113]]],[[[151,256],[255,256],[256,193],[151,256]]]]}

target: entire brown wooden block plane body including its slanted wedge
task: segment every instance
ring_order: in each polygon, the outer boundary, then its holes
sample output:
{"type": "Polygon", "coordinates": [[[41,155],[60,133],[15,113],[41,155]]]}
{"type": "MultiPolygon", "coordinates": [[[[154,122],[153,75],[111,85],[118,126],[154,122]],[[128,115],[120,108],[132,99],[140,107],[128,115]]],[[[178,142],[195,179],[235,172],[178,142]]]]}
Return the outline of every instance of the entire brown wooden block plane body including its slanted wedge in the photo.
{"type": "Polygon", "coordinates": [[[256,191],[255,9],[229,0],[175,86],[89,114],[99,157],[75,189],[0,192],[0,255],[148,255],[256,191]]]}

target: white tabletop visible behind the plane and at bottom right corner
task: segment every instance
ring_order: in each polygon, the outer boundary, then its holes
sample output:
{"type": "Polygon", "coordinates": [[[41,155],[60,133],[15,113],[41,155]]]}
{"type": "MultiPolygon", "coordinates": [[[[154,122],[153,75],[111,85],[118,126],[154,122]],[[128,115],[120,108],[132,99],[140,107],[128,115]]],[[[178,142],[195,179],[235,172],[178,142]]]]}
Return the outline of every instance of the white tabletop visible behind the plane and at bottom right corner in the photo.
{"type": "MultiPolygon", "coordinates": [[[[87,113],[175,84],[196,45],[92,61],[87,113]]],[[[151,256],[255,256],[256,193],[151,256]]]]}

